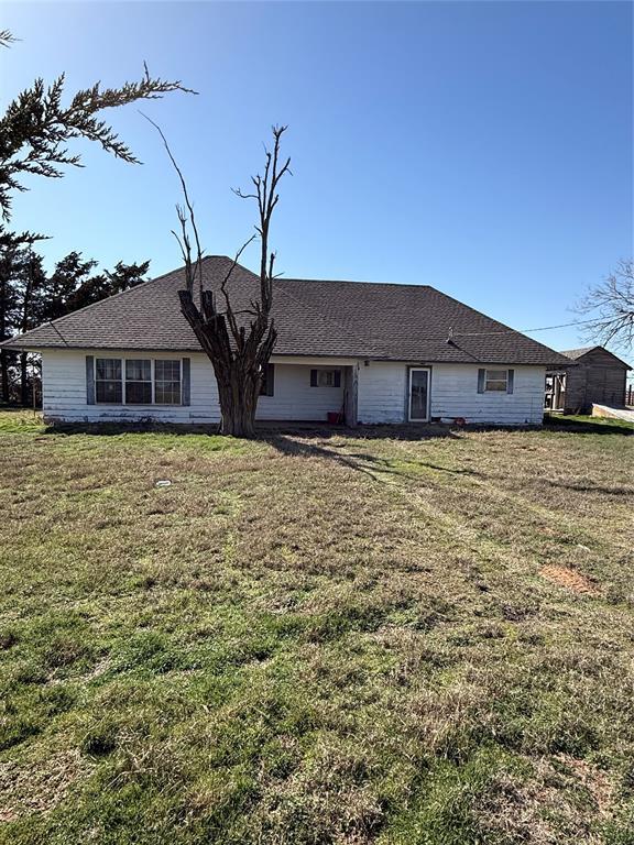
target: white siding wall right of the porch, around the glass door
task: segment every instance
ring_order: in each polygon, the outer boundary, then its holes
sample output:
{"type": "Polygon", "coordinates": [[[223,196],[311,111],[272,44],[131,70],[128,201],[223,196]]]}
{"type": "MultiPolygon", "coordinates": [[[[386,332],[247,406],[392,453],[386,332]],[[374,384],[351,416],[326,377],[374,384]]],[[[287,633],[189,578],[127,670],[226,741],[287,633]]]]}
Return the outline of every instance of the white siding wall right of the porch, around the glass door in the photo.
{"type": "MultiPolygon", "coordinates": [[[[423,366],[424,364],[419,364],[423,366]]],[[[431,364],[430,417],[463,417],[472,424],[540,425],[544,418],[544,366],[510,365],[512,394],[478,393],[478,364],[431,364]]],[[[408,366],[371,361],[359,365],[359,421],[405,422],[408,366]]]]}

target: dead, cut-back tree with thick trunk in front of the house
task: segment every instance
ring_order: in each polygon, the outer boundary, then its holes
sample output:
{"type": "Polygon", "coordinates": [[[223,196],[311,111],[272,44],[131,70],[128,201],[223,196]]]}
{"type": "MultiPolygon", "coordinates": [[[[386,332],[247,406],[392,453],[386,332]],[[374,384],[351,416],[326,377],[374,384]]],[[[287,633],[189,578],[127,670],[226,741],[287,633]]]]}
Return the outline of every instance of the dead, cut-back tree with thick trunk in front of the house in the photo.
{"type": "Polygon", "coordinates": [[[253,437],[262,378],[277,338],[271,317],[275,253],[269,248],[269,238],[273,211],[280,199],[277,187],[282,177],[291,172],[291,158],[283,160],[281,156],[281,140],[286,127],[272,128],[273,149],[265,150],[263,174],[251,179],[253,193],[234,191],[242,199],[256,201],[258,223],[255,234],[238,250],[219,289],[215,292],[204,286],[203,249],[183,172],[161,128],[150,122],[161,133],[183,189],[184,205],[176,206],[181,231],[174,232],[185,263],[185,289],[178,292],[181,310],[214,366],[220,399],[221,432],[253,437]],[[229,285],[242,252],[255,239],[260,240],[259,296],[254,295],[248,308],[238,310],[231,301],[229,285]]]}

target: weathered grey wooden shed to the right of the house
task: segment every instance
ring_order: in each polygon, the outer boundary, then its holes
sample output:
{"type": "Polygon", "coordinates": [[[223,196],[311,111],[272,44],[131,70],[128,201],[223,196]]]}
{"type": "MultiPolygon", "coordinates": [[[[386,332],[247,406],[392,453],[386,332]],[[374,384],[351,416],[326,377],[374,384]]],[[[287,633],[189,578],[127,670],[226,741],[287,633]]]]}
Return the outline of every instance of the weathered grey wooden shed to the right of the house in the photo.
{"type": "Polygon", "coordinates": [[[569,349],[561,354],[568,364],[546,374],[547,409],[588,414],[593,404],[616,408],[625,404],[630,364],[603,347],[569,349]]]}

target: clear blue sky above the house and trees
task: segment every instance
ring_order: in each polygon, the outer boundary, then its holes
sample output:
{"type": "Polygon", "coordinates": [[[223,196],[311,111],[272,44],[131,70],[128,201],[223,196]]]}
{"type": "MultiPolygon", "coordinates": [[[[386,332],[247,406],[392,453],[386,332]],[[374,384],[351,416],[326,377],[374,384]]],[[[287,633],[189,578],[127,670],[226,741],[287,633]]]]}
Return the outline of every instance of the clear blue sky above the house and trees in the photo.
{"type": "MultiPolygon", "coordinates": [[[[166,132],[209,253],[233,253],[236,198],[287,123],[294,175],[273,242],[287,276],[434,285],[518,329],[569,322],[632,254],[628,2],[4,3],[22,41],[0,55],[6,105],[34,76],[68,91],[145,59],[198,97],[142,108],[166,132]]],[[[135,107],[109,114],[143,166],[87,143],[86,167],[33,179],[14,228],[111,265],[177,266],[178,186],[135,107]]],[[[244,263],[255,266],[256,249],[244,263]]],[[[555,348],[578,329],[540,332],[555,348]]]]}

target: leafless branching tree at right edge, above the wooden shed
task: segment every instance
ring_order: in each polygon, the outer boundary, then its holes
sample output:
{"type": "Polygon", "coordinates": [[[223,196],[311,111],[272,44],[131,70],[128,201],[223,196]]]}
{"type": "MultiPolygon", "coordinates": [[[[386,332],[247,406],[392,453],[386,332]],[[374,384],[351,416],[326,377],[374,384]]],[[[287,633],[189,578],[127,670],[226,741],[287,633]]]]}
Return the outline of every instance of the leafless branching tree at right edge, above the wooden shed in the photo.
{"type": "Polygon", "coordinates": [[[591,287],[575,310],[589,317],[583,328],[588,340],[631,349],[634,341],[634,261],[620,261],[616,270],[591,287]]]}

